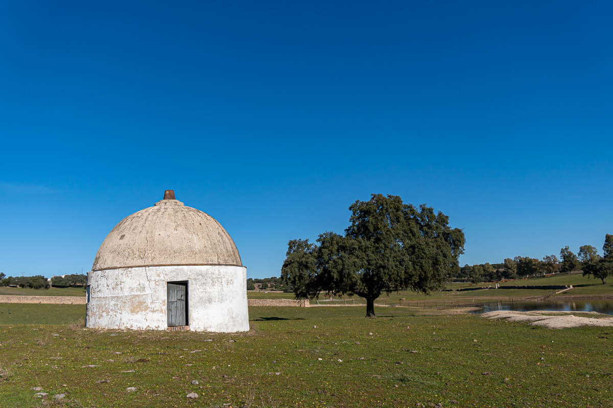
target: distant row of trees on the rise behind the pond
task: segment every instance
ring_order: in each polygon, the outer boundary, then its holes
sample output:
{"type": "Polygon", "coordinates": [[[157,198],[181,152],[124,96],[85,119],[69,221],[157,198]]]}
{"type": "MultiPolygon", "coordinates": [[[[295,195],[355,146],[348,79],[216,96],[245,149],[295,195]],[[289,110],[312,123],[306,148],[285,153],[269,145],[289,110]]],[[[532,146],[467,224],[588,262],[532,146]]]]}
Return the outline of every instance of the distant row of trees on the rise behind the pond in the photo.
{"type": "Polygon", "coordinates": [[[554,273],[582,270],[584,276],[593,276],[603,284],[607,276],[613,276],[613,235],[604,237],[603,256],[592,245],[579,247],[577,254],[568,248],[560,250],[560,258],[552,255],[539,260],[529,256],[504,259],[501,264],[464,265],[452,273],[451,278],[471,280],[474,283],[525,278],[527,276],[552,275],[554,273]]]}

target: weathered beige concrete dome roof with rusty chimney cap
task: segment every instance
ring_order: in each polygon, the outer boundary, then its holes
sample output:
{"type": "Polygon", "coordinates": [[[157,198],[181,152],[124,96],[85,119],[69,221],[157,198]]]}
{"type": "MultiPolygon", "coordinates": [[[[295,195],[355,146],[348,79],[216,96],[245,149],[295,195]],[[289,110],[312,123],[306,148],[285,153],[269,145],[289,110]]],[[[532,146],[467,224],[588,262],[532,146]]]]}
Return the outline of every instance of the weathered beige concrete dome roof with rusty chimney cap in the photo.
{"type": "Polygon", "coordinates": [[[242,266],[234,241],[207,213],[166,190],[155,206],[121,220],[104,239],[91,270],[161,265],[242,266]]]}

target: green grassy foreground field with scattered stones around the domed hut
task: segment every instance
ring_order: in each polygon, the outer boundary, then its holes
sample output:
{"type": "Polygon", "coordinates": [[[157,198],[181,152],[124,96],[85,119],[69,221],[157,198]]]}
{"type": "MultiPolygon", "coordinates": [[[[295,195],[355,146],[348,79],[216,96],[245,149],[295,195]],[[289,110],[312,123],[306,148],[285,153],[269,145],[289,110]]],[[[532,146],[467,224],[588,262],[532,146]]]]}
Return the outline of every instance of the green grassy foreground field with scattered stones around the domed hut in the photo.
{"type": "Polygon", "coordinates": [[[249,333],[133,332],[55,306],[0,305],[1,407],[42,406],[32,387],[67,407],[613,406],[613,328],[252,307],[249,333]]]}

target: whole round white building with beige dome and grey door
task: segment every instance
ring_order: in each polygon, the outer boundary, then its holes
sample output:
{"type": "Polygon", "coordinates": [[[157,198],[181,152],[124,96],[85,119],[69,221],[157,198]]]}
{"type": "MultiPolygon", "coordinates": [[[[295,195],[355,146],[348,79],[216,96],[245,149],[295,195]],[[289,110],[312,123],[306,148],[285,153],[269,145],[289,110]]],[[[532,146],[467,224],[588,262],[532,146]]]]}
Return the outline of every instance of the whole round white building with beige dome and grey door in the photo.
{"type": "Polygon", "coordinates": [[[109,232],[87,280],[87,327],[249,330],[246,268],[234,241],[173,190],[109,232]]]}

